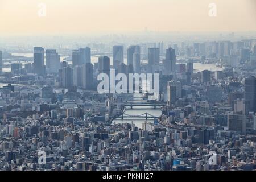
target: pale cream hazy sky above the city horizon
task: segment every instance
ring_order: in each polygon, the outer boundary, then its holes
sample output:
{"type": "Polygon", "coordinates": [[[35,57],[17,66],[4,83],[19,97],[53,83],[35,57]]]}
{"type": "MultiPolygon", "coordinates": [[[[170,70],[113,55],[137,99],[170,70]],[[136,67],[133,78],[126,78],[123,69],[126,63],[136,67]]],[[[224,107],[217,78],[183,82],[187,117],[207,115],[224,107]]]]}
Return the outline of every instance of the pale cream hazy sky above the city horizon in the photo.
{"type": "Polygon", "coordinates": [[[256,0],[0,0],[0,36],[256,31],[256,0]],[[210,17],[209,3],[217,16],[210,17]],[[46,16],[39,17],[39,3],[46,16]]]}

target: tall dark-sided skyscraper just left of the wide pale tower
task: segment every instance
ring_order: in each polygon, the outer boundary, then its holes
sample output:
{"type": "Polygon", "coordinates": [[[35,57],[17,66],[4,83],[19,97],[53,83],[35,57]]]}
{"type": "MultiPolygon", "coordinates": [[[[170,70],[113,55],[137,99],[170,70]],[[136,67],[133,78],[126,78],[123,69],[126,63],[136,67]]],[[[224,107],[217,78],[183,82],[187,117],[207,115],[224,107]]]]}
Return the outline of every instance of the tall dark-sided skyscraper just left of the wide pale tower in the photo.
{"type": "Polygon", "coordinates": [[[44,75],[44,49],[42,47],[34,47],[34,73],[44,75]]]}

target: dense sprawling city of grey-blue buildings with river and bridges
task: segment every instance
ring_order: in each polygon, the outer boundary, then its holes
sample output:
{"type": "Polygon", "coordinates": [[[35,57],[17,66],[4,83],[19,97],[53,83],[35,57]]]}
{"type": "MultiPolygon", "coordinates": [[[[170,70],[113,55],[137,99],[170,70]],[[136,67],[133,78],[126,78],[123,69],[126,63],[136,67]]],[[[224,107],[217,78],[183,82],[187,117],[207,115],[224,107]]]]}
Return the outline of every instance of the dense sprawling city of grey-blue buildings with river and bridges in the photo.
{"type": "Polygon", "coordinates": [[[234,36],[1,44],[0,170],[255,170],[256,39],[234,36]],[[159,90],[99,93],[113,71],[158,73],[159,90]]]}

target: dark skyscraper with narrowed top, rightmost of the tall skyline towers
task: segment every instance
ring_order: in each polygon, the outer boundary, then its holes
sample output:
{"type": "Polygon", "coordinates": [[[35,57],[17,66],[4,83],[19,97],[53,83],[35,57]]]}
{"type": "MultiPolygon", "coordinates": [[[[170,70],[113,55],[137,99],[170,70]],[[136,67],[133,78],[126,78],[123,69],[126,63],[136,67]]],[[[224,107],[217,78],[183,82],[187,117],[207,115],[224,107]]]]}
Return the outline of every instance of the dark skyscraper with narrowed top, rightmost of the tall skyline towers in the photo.
{"type": "Polygon", "coordinates": [[[165,75],[170,75],[170,73],[175,72],[175,68],[176,68],[175,49],[170,47],[166,50],[166,59],[164,60],[165,75]]]}

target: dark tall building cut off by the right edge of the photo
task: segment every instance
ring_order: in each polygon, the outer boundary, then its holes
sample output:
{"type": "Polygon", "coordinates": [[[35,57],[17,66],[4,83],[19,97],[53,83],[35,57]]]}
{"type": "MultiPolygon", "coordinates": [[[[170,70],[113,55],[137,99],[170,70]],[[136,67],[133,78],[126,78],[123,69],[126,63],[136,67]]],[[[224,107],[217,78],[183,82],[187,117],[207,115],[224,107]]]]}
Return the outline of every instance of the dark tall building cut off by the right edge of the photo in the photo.
{"type": "Polygon", "coordinates": [[[256,78],[251,76],[245,78],[245,101],[246,114],[249,112],[256,112],[256,78]]]}

